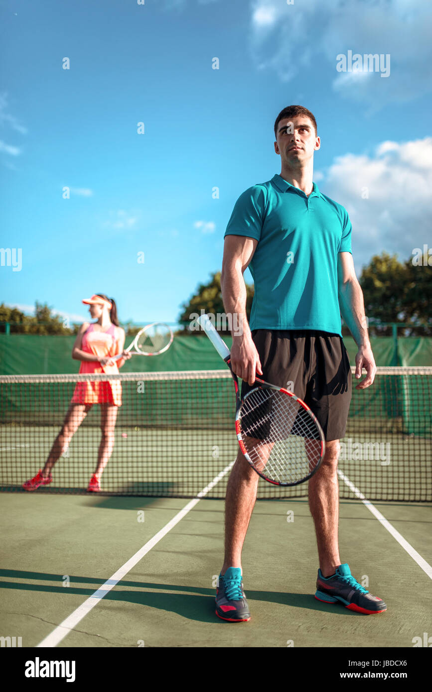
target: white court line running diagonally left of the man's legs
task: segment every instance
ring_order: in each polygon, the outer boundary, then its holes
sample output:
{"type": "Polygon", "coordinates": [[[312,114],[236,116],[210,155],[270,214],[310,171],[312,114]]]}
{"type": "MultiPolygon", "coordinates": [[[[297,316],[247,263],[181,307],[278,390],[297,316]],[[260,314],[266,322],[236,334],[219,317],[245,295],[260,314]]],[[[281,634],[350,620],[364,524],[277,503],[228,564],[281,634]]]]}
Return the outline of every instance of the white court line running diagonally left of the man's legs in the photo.
{"type": "Polygon", "coordinates": [[[66,637],[66,635],[73,630],[74,627],[78,625],[78,623],[82,620],[83,617],[87,615],[88,612],[92,608],[95,607],[95,605],[98,605],[99,601],[103,599],[107,595],[109,591],[120,581],[120,579],[123,579],[125,574],[132,570],[132,567],[135,567],[135,565],[156,545],[156,543],[159,543],[159,540],[163,538],[163,536],[166,536],[171,529],[174,528],[176,524],[179,523],[183,519],[183,517],[186,516],[188,512],[190,512],[191,509],[195,507],[196,504],[198,504],[199,500],[201,498],[204,498],[208,491],[210,491],[217,483],[219,483],[219,480],[221,480],[224,475],[228,473],[228,471],[233,468],[234,462],[231,462],[231,464],[228,464],[224,468],[223,471],[221,471],[215,478],[213,478],[213,481],[211,481],[208,486],[206,486],[201,492],[197,494],[197,497],[194,498],[193,500],[190,500],[188,504],[186,504],[183,509],[181,509],[176,516],[174,516],[167,525],[163,527],[160,531],[157,532],[153,536],[153,538],[150,538],[150,540],[143,545],[142,548],[136,552],[132,558],[130,558],[127,563],[125,563],[120,569],[117,570],[107,581],[105,581],[104,584],[98,590],[96,590],[89,598],[87,601],[84,601],[82,605],[80,605],[76,610],[73,611],[69,615],[69,617],[66,617],[66,620],[63,620],[60,625],[58,625],[51,634],[48,635],[48,637],[45,637],[45,639],[42,639],[40,644],[37,644],[36,648],[42,648],[46,646],[57,646],[57,644],[60,644],[60,641],[66,637]]]}

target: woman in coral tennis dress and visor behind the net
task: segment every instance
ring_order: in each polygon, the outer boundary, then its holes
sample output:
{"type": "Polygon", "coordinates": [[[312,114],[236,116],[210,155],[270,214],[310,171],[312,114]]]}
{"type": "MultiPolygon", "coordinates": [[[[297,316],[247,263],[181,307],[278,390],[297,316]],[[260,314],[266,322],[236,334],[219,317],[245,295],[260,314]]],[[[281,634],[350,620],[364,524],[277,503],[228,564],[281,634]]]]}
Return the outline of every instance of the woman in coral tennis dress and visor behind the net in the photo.
{"type": "MultiPolygon", "coordinates": [[[[118,368],[122,367],[131,355],[123,350],[125,330],[118,325],[116,303],[104,293],[96,293],[82,302],[89,304],[91,318],[96,319],[96,322],[84,322],[81,325],[73,345],[72,358],[81,361],[80,373],[117,374],[118,368]],[[122,354],[122,358],[111,361],[111,358],[119,353],[122,354]]],[[[66,451],[73,434],[95,403],[100,404],[102,439],[96,471],[91,476],[87,491],[100,491],[100,477],[114,447],[114,428],[118,407],[121,406],[121,383],[118,380],[77,383],[62,430],[54,441],[44,468],[23,484],[24,489],[35,490],[39,485],[48,485],[53,481],[51,469],[66,451]]]]}

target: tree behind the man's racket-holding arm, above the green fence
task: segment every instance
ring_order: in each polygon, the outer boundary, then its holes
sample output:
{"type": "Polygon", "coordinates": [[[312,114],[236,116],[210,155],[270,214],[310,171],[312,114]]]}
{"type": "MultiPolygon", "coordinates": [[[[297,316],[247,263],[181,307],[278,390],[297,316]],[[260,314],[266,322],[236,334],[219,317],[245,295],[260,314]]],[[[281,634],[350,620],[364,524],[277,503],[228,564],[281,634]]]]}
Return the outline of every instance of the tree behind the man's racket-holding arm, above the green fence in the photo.
{"type": "MultiPolygon", "coordinates": [[[[217,315],[225,313],[220,281],[220,271],[210,274],[210,281],[207,284],[199,284],[195,295],[192,295],[192,298],[181,305],[179,322],[184,323],[184,328],[179,331],[179,334],[197,334],[196,331],[189,329],[193,320],[191,315],[194,313],[201,314],[201,310],[204,310],[206,313],[214,315],[215,318],[217,315]]],[[[251,315],[252,300],[253,286],[246,284],[246,317],[248,320],[251,315]]],[[[217,327],[217,323],[215,327],[217,327]]]]}

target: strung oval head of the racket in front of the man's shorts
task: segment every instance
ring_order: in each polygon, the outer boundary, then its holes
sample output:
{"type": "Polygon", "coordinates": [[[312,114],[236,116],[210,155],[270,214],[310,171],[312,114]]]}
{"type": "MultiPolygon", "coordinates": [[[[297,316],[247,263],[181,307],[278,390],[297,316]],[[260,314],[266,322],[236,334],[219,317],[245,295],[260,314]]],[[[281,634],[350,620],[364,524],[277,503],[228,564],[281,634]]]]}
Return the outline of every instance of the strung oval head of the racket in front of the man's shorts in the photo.
{"type": "Polygon", "coordinates": [[[321,437],[312,416],[277,390],[253,390],[242,401],[240,431],[253,466],[270,480],[294,484],[321,458],[321,437]]]}

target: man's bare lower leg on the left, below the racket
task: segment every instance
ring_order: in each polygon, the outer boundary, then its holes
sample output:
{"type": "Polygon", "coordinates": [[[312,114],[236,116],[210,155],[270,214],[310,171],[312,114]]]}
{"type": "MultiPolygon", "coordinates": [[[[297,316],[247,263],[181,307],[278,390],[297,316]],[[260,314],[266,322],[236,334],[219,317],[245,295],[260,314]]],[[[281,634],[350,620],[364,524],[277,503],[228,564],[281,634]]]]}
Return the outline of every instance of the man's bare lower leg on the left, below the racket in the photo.
{"type": "Polygon", "coordinates": [[[255,504],[258,473],[239,450],[228,479],[225,499],[225,560],[221,574],[228,567],[242,567],[242,547],[255,504]]]}

